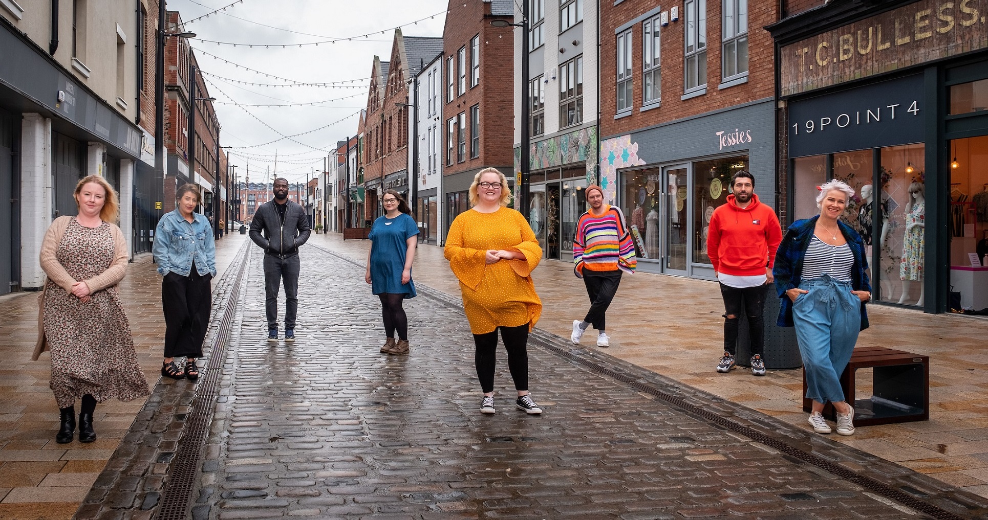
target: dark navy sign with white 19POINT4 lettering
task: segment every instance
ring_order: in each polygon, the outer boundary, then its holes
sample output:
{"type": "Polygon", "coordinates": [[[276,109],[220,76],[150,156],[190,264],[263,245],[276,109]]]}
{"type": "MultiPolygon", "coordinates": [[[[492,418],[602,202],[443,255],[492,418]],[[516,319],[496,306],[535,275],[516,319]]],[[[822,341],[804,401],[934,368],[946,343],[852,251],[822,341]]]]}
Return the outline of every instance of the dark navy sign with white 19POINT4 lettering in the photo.
{"type": "Polygon", "coordinates": [[[922,142],[923,76],[790,102],[789,157],[922,142]]]}

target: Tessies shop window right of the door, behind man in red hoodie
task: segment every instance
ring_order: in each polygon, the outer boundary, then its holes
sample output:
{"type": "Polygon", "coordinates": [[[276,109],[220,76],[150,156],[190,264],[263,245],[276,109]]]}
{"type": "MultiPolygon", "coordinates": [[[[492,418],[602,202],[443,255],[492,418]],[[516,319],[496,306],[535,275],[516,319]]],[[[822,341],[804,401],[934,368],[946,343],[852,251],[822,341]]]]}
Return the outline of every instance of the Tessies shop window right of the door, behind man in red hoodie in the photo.
{"type": "MultiPolygon", "coordinates": [[[[694,263],[710,263],[710,258],[706,256],[706,236],[710,217],[713,216],[714,209],[727,201],[731,176],[741,170],[748,170],[747,155],[694,163],[694,263]]],[[[758,192],[757,185],[755,191],[758,192]]]]}

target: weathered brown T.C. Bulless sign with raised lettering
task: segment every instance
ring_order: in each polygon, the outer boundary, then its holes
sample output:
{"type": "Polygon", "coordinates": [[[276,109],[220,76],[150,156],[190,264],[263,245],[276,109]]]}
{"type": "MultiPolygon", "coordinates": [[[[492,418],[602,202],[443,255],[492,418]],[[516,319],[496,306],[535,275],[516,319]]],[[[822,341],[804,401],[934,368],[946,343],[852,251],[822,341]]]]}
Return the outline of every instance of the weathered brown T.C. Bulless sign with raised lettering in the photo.
{"type": "Polygon", "coordinates": [[[782,96],[988,48],[988,0],[921,0],[782,47],[782,96]]]}

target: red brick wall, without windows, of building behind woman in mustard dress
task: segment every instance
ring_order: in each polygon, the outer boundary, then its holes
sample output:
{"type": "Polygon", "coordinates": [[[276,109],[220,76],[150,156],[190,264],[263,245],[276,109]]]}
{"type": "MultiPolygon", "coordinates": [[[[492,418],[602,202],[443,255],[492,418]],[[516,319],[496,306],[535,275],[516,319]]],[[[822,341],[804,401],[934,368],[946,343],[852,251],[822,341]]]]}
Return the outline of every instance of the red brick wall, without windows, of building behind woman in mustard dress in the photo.
{"type": "MultiPolygon", "coordinates": [[[[495,28],[490,25],[490,4],[471,1],[462,7],[462,2],[450,2],[446,18],[446,28],[443,30],[444,60],[443,82],[440,85],[443,100],[443,117],[440,121],[440,160],[443,175],[450,176],[460,172],[476,170],[488,166],[503,167],[513,163],[514,136],[514,38],[510,30],[495,28]],[[470,39],[480,37],[480,81],[475,87],[470,87],[470,39]],[[456,52],[460,47],[466,47],[466,92],[459,95],[459,63],[456,52]],[[447,62],[453,56],[456,65],[455,97],[447,99],[447,62]],[[476,158],[470,158],[470,108],[479,104],[480,110],[480,148],[476,158]],[[463,161],[457,161],[453,154],[453,166],[447,164],[447,122],[451,117],[457,117],[465,112],[464,134],[466,153],[463,161]]],[[[455,136],[454,136],[455,137],[455,136]]],[[[454,151],[458,143],[454,144],[454,151]]],[[[511,177],[511,172],[504,172],[511,177]]]]}

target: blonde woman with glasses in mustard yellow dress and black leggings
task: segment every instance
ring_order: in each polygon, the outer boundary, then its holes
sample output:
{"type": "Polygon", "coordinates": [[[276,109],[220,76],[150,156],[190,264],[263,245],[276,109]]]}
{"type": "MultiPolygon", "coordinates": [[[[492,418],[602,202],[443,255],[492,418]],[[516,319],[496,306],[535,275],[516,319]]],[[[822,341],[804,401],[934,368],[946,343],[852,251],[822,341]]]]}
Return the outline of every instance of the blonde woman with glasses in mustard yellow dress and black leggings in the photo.
{"type": "Polygon", "coordinates": [[[542,410],[529,392],[529,332],[542,313],[532,270],[542,258],[535,233],[521,213],[506,207],[508,180],[495,168],[477,173],[470,185],[471,209],[450,226],[446,258],[459,280],[463,310],[476,345],[474,362],[484,397],[481,413],[494,413],[497,333],[508,351],[508,368],[518,391],[515,405],[542,410]]]}

